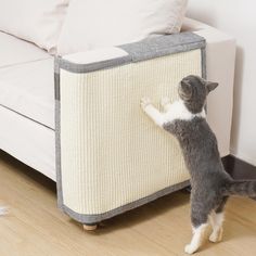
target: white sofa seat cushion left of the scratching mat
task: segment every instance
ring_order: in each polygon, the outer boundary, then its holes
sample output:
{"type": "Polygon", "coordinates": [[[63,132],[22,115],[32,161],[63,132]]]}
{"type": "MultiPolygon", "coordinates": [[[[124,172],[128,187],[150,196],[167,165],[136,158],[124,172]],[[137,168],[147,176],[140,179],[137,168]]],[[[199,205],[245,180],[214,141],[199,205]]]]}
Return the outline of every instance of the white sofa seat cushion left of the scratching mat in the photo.
{"type": "Polygon", "coordinates": [[[54,129],[53,57],[0,33],[0,105],[54,129]]]}

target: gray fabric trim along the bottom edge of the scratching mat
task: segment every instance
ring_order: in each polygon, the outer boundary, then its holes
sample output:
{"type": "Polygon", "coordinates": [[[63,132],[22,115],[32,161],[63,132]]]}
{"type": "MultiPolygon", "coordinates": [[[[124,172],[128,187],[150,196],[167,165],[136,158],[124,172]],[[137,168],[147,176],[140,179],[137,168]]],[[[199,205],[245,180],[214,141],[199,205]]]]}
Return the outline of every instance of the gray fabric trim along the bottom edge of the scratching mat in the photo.
{"type": "Polygon", "coordinates": [[[65,206],[64,204],[62,205],[62,209],[66,214],[68,214],[73,219],[75,219],[81,223],[92,225],[92,223],[100,222],[101,220],[104,220],[104,219],[110,219],[116,215],[119,215],[119,214],[123,214],[123,213],[128,212],[130,209],[137,208],[141,205],[148,204],[158,197],[162,197],[162,196],[167,195],[169,193],[181,190],[181,189],[188,187],[189,184],[190,184],[190,181],[188,180],[188,181],[184,181],[184,182],[181,182],[178,184],[170,185],[168,188],[165,188],[163,190],[155,192],[154,194],[151,194],[151,195],[145,196],[143,199],[137,200],[132,203],[123,205],[118,208],[115,208],[115,209],[112,209],[110,212],[106,212],[104,214],[99,214],[99,215],[77,214],[74,210],[72,210],[71,208],[68,208],[67,206],[65,206]]]}

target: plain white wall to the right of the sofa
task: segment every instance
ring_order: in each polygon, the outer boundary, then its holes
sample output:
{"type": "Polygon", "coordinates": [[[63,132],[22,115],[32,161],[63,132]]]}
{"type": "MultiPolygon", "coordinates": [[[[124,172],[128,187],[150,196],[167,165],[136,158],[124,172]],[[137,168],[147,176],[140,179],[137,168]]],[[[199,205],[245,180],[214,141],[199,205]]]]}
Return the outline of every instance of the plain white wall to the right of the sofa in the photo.
{"type": "Polygon", "coordinates": [[[256,166],[256,1],[189,1],[189,17],[236,39],[231,153],[256,166]]]}

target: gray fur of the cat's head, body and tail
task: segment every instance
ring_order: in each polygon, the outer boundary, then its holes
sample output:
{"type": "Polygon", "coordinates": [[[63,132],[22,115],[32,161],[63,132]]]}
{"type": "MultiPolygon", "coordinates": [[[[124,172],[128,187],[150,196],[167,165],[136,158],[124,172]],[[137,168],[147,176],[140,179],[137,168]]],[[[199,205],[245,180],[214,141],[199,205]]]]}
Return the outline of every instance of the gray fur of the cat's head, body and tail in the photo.
{"type": "MultiPolygon", "coordinates": [[[[193,114],[201,113],[209,91],[217,87],[197,76],[188,76],[179,85],[179,95],[193,114]]],[[[208,215],[221,213],[229,195],[256,196],[256,181],[234,181],[222,166],[217,139],[206,119],[176,119],[163,128],[176,136],[191,175],[191,220],[193,227],[206,223],[208,215]]]]}

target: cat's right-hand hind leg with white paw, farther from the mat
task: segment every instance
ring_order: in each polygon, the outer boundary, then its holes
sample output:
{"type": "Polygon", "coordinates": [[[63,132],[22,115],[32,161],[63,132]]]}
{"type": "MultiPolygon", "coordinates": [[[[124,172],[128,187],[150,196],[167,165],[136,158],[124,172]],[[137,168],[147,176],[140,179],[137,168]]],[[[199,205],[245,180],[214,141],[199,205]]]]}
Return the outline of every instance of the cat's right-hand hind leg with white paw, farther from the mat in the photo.
{"type": "Polygon", "coordinates": [[[209,220],[213,228],[213,232],[209,235],[209,241],[213,243],[220,242],[223,233],[223,220],[225,220],[225,205],[228,201],[228,196],[223,197],[216,210],[213,210],[209,220]]]}

